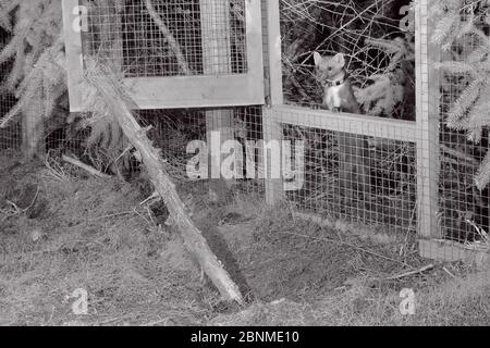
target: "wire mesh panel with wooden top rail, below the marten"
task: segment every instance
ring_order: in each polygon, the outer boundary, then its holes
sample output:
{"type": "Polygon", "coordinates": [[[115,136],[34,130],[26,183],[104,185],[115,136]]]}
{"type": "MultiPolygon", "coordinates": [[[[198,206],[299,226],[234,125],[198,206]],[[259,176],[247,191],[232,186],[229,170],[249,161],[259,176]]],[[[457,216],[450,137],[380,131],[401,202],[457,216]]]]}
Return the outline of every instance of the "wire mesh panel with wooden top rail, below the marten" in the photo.
{"type": "Polygon", "coordinates": [[[299,184],[292,189],[286,188],[289,185],[282,187],[287,189],[287,200],[298,209],[330,221],[416,231],[417,156],[413,125],[385,124],[376,129],[369,127],[369,122],[356,124],[342,120],[342,115],[328,120],[321,112],[308,114],[286,107],[270,111],[270,117],[280,127],[282,141],[303,146],[301,158],[292,160],[296,163],[293,175],[287,175],[282,163],[284,183],[299,184]],[[402,132],[405,139],[393,138],[402,132]],[[384,134],[391,135],[384,138],[384,134]]]}

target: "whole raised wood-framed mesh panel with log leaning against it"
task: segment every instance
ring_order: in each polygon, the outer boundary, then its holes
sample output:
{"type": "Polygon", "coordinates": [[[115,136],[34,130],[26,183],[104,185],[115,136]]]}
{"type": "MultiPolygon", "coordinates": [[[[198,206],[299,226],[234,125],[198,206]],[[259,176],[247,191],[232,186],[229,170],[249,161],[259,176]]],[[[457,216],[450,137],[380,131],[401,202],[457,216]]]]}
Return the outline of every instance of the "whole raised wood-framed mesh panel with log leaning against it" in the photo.
{"type": "Polygon", "coordinates": [[[83,111],[84,60],[125,78],[139,109],[264,102],[260,1],[64,0],[71,111],[83,111]]]}

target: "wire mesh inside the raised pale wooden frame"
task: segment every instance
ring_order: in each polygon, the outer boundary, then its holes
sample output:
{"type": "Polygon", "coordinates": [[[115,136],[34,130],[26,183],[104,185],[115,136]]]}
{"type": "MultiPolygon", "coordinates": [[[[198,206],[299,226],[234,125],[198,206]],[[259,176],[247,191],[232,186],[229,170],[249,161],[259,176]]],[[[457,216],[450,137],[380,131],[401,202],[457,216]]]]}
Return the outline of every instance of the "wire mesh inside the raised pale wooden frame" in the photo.
{"type": "Polygon", "coordinates": [[[125,77],[247,72],[245,0],[82,1],[86,53],[125,77]]]}

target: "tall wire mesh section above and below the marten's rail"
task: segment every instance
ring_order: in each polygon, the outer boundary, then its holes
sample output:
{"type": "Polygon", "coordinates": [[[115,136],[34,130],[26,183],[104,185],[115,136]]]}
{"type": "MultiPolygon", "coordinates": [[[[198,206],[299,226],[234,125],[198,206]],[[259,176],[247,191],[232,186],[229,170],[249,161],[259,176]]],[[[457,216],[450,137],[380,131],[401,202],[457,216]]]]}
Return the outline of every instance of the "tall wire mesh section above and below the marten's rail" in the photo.
{"type": "MultiPolygon", "coordinates": [[[[407,1],[407,4],[409,1],[407,1]]],[[[319,7],[326,4],[319,3],[319,7]]],[[[301,7],[286,7],[281,11],[281,32],[283,49],[283,95],[287,105],[302,108],[289,113],[287,108],[270,112],[271,122],[280,128],[279,133],[286,141],[303,141],[305,146],[302,173],[296,173],[304,182],[299,189],[285,194],[297,209],[318,214],[331,221],[345,221],[356,225],[384,226],[396,232],[417,229],[417,147],[415,138],[394,140],[391,138],[364,136],[366,132],[350,124],[342,116],[335,117],[335,127],[329,127],[329,114],[321,115],[320,101],[322,86],[316,80],[317,72],[313,58],[306,54],[294,57],[290,46],[294,47],[301,33],[285,25],[287,18],[298,16],[307,21],[305,33],[326,33],[327,38],[316,49],[323,57],[333,57],[343,52],[346,70],[352,83],[357,87],[368,87],[369,77],[390,70],[390,54],[375,42],[367,42],[369,35],[377,32],[391,33],[387,39],[405,34],[396,25],[397,17],[387,21],[369,21],[370,16],[389,16],[389,5],[384,2],[369,11],[357,13],[351,4],[340,3],[338,12],[328,21],[306,18],[310,13],[301,7]],[[356,28],[357,22],[369,22],[372,26],[356,28]],[[338,30],[342,27],[343,30],[338,30]],[[292,32],[293,34],[291,34],[292,32]],[[359,47],[366,42],[370,48],[359,47]],[[310,57],[310,59],[307,59],[310,57]],[[310,110],[316,110],[310,112],[310,110]],[[310,125],[307,123],[311,122],[310,125]],[[321,126],[318,126],[321,125],[321,126]]],[[[324,18],[323,18],[324,20],[324,18]]],[[[308,41],[308,38],[304,38],[308,41]]],[[[408,37],[406,47],[413,45],[408,37]]],[[[415,82],[415,65],[404,71],[407,78],[415,82]]],[[[415,86],[414,86],[415,92],[415,86]]],[[[415,96],[413,102],[415,103],[415,96]]],[[[364,110],[366,112],[366,110],[364,110]]],[[[397,108],[390,115],[378,116],[415,121],[415,108],[397,108]]],[[[367,126],[367,125],[366,125],[367,126]]],[[[404,132],[403,125],[385,125],[397,134],[404,132]]],[[[408,129],[407,129],[408,130],[408,129]]],[[[413,130],[412,127],[409,129],[413,130]]],[[[265,135],[274,138],[277,134],[265,135]]],[[[294,161],[293,161],[294,162],[294,161]]]]}

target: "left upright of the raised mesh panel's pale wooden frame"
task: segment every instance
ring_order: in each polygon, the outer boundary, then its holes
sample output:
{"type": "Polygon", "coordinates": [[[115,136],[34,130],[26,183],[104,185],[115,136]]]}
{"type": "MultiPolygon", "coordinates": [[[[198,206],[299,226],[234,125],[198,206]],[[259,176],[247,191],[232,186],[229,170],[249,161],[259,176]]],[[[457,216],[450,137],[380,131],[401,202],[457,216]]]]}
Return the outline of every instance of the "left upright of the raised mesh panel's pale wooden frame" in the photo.
{"type": "Polygon", "coordinates": [[[63,0],[63,35],[64,50],[66,55],[66,74],[70,98],[70,110],[82,111],[84,88],[84,60],[82,50],[82,33],[77,33],[74,23],[79,15],[76,9],[79,5],[78,0],[63,0]]]}

